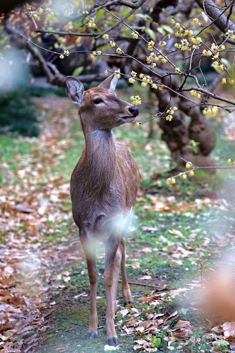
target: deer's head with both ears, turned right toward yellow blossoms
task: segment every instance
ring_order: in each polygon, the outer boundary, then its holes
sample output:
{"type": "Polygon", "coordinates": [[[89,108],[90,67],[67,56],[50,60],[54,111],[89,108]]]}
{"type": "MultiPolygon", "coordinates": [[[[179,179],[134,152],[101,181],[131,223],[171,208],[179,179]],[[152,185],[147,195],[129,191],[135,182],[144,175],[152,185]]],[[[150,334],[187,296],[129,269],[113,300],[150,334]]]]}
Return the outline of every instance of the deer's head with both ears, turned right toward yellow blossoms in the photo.
{"type": "Polygon", "coordinates": [[[82,124],[91,130],[109,130],[135,120],[137,107],[118,98],[114,93],[117,84],[115,74],[106,78],[98,87],[84,91],[78,79],[66,77],[69,99],[78,108],[82,124]]]}

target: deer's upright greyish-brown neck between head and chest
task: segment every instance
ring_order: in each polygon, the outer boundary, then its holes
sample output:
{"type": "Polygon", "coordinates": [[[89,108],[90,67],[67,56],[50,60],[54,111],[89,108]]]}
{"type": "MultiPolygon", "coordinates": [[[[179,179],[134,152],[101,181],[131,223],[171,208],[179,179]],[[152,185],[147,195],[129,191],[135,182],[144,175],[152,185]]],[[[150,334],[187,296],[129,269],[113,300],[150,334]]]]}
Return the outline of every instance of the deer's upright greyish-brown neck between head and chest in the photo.
{"type": "Polygon", "coordinates": [[[109,184],[115,175],[116,144],[111,130],[92,130],[82,126],[85,141],[85,165],[88,178],[96,187],[109,184]]]}

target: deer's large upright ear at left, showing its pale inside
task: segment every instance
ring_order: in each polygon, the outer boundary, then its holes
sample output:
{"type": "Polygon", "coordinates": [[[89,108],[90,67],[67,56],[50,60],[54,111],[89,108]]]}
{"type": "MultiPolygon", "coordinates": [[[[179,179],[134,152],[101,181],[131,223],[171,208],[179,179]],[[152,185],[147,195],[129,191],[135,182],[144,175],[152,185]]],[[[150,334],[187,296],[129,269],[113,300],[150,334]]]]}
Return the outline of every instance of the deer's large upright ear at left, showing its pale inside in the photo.
{"type": "Polygon", "coordinates": [[[79,109],[81,107],[81,102],[84,97],[84,87],[81,81],[72,76],[67,76],[66,82],[66,92],[69,99],[73,102],[75,107],[79,109]]]}

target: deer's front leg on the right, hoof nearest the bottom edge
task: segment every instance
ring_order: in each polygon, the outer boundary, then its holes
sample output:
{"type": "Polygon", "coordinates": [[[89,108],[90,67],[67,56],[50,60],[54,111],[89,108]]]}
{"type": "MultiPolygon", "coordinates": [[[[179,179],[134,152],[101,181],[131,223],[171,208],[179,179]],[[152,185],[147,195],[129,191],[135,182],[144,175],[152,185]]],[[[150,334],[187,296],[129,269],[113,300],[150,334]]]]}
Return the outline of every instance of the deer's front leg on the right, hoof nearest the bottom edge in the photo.
{"type": "Polygon", "coordinates": [[[115,264],[115,256],[120,243],[118,238],[110,238],[105,247],[105,271],[104,271],[104,284],[106,291],[106,334],[107,343],[110,346],[119,344],[115,325],[113,321],[113,307],[112,307],[112,284],[113,284],[113,270],[115,264]]]}

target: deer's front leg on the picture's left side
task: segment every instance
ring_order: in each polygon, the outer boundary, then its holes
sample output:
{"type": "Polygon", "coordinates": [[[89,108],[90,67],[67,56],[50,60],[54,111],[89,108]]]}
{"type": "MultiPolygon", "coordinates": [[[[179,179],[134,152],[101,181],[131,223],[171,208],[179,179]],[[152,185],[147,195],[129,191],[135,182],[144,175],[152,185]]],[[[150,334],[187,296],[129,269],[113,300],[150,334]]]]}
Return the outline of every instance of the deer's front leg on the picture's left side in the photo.
{"type": "Polygon", "coordinates": [[[88,277],[90,282],[90,317],[86,339],[91,339],[97,337],[98,328],[96,309],[96,283],[98,279],[98,271],[95,263],[95,249],[92,247],[92,244],[88,243],[87,239],[81,239],[81,243],[86,256],[88,277]]]}

